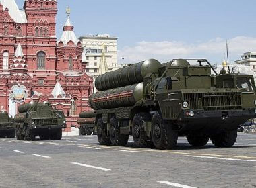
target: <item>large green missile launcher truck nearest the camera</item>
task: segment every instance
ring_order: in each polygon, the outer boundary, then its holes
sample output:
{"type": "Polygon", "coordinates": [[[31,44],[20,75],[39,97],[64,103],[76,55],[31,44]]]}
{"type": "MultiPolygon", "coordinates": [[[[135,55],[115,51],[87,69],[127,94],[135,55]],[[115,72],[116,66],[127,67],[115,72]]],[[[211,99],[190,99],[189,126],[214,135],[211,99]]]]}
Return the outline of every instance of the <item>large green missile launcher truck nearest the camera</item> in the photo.
{"type": "Polygon", "coordinates": [[[256,117],[253,76],[218,75],[205,59],[150,59],[99,75],[95,86],[89,103],[100,144],[125,146],[132,135],[137,146],[172,149],[186,136],[192,146],[210,138],[231,147],[239,126],[256,117]]]}

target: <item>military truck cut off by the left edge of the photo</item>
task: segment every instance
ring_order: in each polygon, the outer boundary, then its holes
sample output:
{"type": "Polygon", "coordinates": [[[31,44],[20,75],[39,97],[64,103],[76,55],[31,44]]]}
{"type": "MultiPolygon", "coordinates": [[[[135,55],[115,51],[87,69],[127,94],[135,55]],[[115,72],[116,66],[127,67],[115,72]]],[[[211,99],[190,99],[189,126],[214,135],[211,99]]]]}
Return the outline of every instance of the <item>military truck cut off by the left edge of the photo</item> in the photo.
{"type": "Polygon", "coordinates": [[[13,118],[9,118],[7,111],[0,111],[0,138],[14,138],[13,118]]]}

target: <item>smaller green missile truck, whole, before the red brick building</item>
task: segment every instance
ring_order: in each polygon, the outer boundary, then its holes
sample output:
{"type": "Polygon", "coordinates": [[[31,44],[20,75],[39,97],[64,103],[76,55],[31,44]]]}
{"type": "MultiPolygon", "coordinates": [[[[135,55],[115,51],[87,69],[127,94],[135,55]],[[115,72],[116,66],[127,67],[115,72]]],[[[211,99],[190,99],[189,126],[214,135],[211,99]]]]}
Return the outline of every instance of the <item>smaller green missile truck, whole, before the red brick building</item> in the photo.
{"type": "Polygon", "coordinates": [[[66,128],[62,110],[53,109],[51,103],[30,102],[18,107],[15,115],[17,140],[61,140],[62,129],[66,128]]]}

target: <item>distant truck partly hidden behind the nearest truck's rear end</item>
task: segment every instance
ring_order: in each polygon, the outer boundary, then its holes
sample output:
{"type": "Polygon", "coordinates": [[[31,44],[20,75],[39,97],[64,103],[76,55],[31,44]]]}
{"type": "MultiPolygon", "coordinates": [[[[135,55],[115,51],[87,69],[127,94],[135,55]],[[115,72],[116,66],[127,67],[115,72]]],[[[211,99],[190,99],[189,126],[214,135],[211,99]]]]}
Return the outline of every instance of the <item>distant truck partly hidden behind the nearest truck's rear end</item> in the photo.
{"type": "Polygon", "coordinates": [[[94,122],[95,122],[96,113],[93,111],[83,111],[79,114],[77,119],[77,124],[79,127],[80,135],[91,135],[94,133],[94,122]]]}

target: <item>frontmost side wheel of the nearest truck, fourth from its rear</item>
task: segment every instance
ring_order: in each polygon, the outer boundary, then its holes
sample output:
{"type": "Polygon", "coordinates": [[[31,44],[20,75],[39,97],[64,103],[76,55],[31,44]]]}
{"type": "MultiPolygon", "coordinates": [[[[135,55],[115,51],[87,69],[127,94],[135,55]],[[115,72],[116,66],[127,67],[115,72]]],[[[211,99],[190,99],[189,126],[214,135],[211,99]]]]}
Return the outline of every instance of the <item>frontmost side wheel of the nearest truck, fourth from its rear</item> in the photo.
{"type": "Polygon", "coordinates": [[[153,115],[151,134],[152,141],[157,149],[172,149],[177,144],[177,132],[172,129],[172,124],[164,122],[160,111],[153,115]]]}

